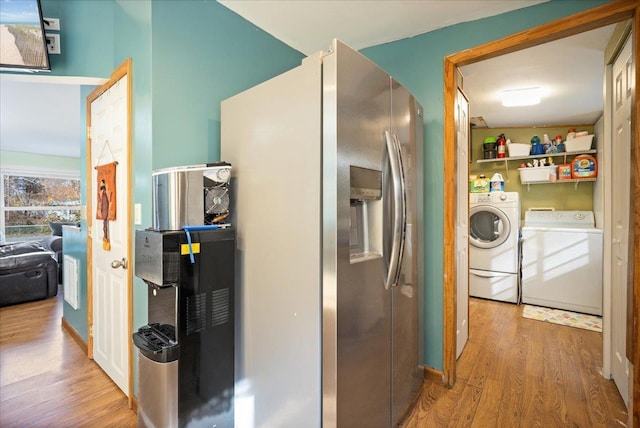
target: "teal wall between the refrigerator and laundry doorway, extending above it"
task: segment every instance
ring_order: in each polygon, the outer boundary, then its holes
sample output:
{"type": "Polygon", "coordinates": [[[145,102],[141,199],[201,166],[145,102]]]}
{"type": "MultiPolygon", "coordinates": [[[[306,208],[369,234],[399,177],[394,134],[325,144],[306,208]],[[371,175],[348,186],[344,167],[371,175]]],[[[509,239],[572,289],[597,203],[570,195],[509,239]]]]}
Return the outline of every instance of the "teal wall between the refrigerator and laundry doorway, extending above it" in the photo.
{"type": "MultiPolygon", "coordinates": [[[[362,53],[406,86],[424,107],[425,364],[443,367],[444,57],[587,10],[606,0],[552,0],[466,22],[362,53]]],[[[451,178],[449,178],[451,179],[451,178]]]]}

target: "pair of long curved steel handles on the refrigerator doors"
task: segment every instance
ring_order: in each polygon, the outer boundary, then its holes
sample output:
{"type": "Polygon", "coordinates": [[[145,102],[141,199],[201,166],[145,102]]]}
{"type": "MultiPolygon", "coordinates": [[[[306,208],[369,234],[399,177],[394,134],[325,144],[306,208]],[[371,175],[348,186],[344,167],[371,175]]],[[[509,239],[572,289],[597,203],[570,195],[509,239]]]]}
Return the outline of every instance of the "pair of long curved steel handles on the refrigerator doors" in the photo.
{"type": "Polygon", "coordinates": [[[400,261],[402,257],[403,245],[403,215],[406,212],[404,198],[404,183],[402,180],[401,157],[398,151],[397,138],[391,138],[389,131],[384,131],[387,153],[389,155],[389,166],[391,167],[391,184],[393,187],[393,231],[391,254],[389,254],[389,264],[387,275],[384,281],[384,288],[388,290],[398,283],[400,261]]]}

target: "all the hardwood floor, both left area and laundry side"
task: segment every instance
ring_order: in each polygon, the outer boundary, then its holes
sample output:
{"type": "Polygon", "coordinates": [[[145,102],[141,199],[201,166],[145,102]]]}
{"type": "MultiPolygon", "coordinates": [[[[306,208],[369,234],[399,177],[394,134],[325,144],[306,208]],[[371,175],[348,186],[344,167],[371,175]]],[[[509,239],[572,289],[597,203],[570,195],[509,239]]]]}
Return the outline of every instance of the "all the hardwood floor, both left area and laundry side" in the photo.
{"type": "MultiPolygon", "coordinates": [[[[0,427],[135,427],[125,396],[61,328],[61,299],[0,308],[0,427]]],[[[625,427],[599,373],[602,335],[521,313],[471,299],[456,385],[426,381],[404,428],[625,427]]]]}

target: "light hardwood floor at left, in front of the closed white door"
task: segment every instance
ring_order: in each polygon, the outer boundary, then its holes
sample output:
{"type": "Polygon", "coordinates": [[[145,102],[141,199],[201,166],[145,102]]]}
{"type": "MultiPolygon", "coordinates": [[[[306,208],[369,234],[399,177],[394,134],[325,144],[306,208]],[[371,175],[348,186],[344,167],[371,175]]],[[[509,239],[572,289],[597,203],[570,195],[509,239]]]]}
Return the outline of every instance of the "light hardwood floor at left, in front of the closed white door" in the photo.
{"type": "Polygon", "coordinates": [[[0,427],[135,427],[125,395],[61,319],[61,296],[0,308],[0,427]]]}

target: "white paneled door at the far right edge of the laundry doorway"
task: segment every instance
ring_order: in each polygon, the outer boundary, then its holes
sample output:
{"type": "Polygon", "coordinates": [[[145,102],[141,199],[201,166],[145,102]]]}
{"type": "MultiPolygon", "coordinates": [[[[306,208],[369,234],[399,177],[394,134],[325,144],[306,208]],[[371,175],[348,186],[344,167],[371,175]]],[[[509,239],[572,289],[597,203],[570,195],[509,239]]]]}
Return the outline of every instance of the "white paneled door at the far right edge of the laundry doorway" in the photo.
{"type": "Polygon", "coordinates": [[[627,270],[629,263],[631,95],[634,85],[631,38],[613,64],[611,374],[629,405],[629,361],[626,358],[627,270]]]}

